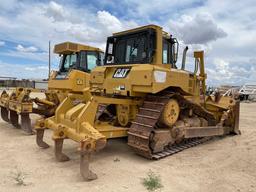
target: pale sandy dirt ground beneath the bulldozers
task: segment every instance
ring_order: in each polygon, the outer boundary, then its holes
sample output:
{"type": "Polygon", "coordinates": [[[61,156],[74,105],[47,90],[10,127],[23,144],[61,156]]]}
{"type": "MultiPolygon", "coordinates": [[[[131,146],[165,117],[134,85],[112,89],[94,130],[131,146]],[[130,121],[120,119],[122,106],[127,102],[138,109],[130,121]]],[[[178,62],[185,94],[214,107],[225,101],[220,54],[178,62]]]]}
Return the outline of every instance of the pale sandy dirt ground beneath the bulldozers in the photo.
{"type": "MultiPolygon", "coordinates": [[[[36,116],[33,116],[35,119],[36,116]]],[[[256,191],[256,103],[241,104],[240,136],[187,149],[159,161],[139,157],[125,139],[112,140],[92,158],[91,169],[98,179],[82,181],[79,174],[78,145],[65,141],[70,161],[55,161],[51,130],[45,140],[51,145],[40,149],[35,136],[0,120],[0,191],[147,191],[141,184],[151,170],[160,175],[163,192],[254,192],[256,191]],[[25,185],[17,185],[18,174],[25,185]]]]}

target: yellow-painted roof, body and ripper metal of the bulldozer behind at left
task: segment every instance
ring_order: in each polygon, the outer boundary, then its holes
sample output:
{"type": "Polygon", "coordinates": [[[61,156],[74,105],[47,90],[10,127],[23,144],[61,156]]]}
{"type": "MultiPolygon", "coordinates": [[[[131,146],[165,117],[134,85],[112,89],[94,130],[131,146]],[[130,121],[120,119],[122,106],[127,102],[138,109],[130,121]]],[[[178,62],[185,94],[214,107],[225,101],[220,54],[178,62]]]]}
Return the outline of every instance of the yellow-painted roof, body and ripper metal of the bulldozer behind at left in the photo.
{"type": "MultiPolygon", "coordinates": [[[[96,47],[87,45],[64,42],[55,45],[54,52],[61,55],[79,53],[81,51],[95,52],[98,56],[103,53],[102,50],[96,47]]],[[[90,99],[91,94],[88,90],[90,74],[89,71],[81,71],[76,69],[70,69],[61,78],[58,77],[61,71],[52,71],[49,81],[48,89],[31,89],[31,88],[16,88],[11,94],[4,92],[0,97],[0,106],[7,110],[12,110],[17,114],[23,113],[36,113],[43,117],[50,117],[54,115],[57,106],[68,96],[69,93],[75,93],[81,95],[84,99],[90,99]],[[30,93],[32,92],[43,92],[45,94],[44,99],[32,98],[30,93]],[[86,92],[86,95],[83,95],[86,92]],[[33,108],[38,106],[37,108],[33,108]]],[[[78,99],[78,98],[76,98],[78,99]]],[[[74,109],[75,110],[75,109],[74,109]]],[[[73,114],[71,110],[71,118],[75,118],[77,113],[73,114]]],[[[67,114],[68,115],[68,114],[67,114]]],[[[42,124],[43,120],[39,120],[36,123],[36,127],[42,124]]]]}

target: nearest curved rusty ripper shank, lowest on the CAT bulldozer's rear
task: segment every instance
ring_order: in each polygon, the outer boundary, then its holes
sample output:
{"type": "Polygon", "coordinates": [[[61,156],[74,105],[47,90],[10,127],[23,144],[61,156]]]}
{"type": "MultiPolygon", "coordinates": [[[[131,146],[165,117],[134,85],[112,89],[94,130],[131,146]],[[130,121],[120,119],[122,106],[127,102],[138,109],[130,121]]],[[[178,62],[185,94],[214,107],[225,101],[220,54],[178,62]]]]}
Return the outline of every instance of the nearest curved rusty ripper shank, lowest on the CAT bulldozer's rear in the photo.
{"type": "Polygon", "coordinates": [[[81,152],[80,173],[84,180],[91,181],[97,179],[97,175],[89,169],[90,153],[81,152]]]}

